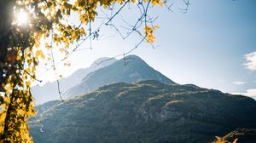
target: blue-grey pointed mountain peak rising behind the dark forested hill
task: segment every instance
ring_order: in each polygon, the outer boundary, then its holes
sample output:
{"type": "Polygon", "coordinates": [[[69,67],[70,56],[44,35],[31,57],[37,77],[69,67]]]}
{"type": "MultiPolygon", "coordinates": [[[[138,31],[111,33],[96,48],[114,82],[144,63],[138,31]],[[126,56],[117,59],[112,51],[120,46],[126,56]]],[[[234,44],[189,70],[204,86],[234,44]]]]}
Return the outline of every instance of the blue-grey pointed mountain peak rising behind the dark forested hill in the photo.
{"type": "Polygon", "coordinates": [[[71,98],[79,94],[84,94],[110,83],[131,83],[146,79],[176,84],[160,72],[148,66],[148,64],[137,55],[128,55],[125,57],[125,61],[123,59],[118,60],[112,65],[105,66],[88,74],[84,77],[82,82],[68,90],[67,97],[71,98]],[[125,65],[124,62],[128,64],[125,65]]]}

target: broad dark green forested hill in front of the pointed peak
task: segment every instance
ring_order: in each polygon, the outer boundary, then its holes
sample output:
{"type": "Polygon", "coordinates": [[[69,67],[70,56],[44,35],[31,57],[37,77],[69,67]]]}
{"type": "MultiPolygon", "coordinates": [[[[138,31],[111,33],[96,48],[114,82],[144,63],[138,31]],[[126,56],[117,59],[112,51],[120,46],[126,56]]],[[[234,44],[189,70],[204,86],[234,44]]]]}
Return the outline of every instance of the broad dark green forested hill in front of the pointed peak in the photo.
{"type": "Polygon", "coordinates": [[[29,122],[37,143],[205,143],[256,129],[251,98],[156,80],[105,85],[41,109],[43,126],[29,122]]]}

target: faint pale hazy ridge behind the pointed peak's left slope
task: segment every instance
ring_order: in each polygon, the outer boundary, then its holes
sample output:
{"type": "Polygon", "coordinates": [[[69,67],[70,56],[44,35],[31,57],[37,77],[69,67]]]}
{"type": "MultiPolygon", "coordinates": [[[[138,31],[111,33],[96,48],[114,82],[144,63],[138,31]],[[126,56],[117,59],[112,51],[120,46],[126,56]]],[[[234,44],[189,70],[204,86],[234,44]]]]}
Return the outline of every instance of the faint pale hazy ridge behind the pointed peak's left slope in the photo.
{"type": "MultiPolygon", "coordinates": [[[[104,57],[97,59],[90,67],[79,69],[74,72],[71,76],[63,78],[59,80],[61,91],[67,91],[67,89],[72,88],[77,83],[81,82],[83,77],[85,77],[90,72],[94,72],[104,66],[108,66],[113,64],[113,62],[117,61],[115,59],[108,60],[109,58],[104,57]],[[102,64],[98,65],[96,63],[100,63],[103,60],[107,60],[106,62],[102,62],[102,64]]],[[[49,100],[60,100],[60,96],[58,94],[57,82],[54,81],[52,83],[45,83],[43,86],[34,86],[32,87],[32,95],[35,98],[37,104],[43,104],[49,100]]]]}

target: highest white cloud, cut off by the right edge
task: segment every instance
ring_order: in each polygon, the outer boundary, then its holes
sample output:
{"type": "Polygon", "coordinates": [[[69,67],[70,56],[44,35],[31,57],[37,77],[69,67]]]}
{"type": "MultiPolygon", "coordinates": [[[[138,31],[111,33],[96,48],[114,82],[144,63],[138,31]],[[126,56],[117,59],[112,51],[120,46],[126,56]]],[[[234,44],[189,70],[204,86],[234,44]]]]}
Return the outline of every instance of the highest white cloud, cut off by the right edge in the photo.
{"type": "Polygon", "coordinates": [[[250,71],[256,71],[256,51],[245,54],[244,57],[247,60],[244,66],[250,71]]]}

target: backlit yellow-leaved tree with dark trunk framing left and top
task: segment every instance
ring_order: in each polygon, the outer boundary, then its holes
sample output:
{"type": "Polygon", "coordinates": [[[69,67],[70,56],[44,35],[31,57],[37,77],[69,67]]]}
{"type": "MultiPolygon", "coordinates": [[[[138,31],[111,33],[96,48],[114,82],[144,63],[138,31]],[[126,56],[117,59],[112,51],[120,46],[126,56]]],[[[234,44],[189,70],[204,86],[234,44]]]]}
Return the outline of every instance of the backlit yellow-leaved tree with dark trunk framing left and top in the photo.
{"type": "Polygon", "coordinates": [[[38,80],[35,72],[39,60],[49,60],[55,69],[52,50],[58,49],[66,59],[77,48],[71,49],[71,44],[79,45],[88,37],[96,37],[90,25],[96,19],[98,8],[111,9],[113,4],[120,9],[108,19],[107,26],[112,25],[111,20],[125,6],[134,4],[141,13],[131,32],[138,32],[143,37],[141,43],[154,43],[154,31],[159,26],[153,25],[148,8],[162,6],[166,4],[164,1],[0,1],[0,142],[32,142],[26,120],[35,115],[30,89],[32,82],[38,80]],[[79,25],[68,20],[71,14],[79,15],[79,25]]]}

